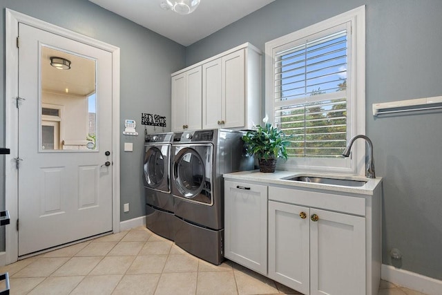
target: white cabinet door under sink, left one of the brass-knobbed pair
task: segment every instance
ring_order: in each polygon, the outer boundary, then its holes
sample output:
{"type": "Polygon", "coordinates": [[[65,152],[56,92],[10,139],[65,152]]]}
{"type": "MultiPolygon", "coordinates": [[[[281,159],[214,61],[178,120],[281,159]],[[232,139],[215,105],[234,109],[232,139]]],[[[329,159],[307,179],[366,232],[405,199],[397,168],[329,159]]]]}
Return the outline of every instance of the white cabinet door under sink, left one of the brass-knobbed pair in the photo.
{"type": "Polygon", "coordinates": [[[309,208],[269,201],[269,278],[310,291],[309,208]]]}

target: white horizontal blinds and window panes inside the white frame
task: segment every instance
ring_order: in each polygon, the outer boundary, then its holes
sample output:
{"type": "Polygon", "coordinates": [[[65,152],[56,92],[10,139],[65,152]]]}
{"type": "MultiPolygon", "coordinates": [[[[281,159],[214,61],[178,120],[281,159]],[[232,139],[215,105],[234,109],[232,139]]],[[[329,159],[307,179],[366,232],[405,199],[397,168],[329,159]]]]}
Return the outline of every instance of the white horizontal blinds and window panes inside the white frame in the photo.
{"type": "Polygon", "coordinates": [[[348,32],[320,35],[273,55],[274,122],[293,135],[290,157],[340,158],[347,144],[348,32]]]}

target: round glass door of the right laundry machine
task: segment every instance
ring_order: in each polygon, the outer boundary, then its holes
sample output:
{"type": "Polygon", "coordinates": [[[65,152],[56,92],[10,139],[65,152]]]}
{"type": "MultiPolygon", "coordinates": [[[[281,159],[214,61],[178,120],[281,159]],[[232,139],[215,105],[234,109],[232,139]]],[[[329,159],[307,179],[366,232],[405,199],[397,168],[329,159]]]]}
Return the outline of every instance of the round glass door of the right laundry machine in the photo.
{"type": "Polygon", "coordinates": [[[212,204],[211,146],[181,149],[175,156],[173,177],[175,187],[184,198],[212,204]]]}

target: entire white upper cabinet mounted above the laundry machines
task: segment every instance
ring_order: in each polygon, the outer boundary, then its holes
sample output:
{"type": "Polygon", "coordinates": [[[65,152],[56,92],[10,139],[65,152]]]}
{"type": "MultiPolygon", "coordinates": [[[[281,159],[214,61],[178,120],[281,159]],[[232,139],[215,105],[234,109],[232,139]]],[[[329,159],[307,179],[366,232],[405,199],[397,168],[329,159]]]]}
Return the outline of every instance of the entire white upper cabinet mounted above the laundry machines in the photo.
{"type": "MultiPolygon", "coordinates": [[[[172,131],[188,129],[251,129],[259,124],[261,112],[261,55],[258,48],[242,44],[198,64],[172,74],[172,131]],[[189,77],[185,86],[180,77],[189,70],[200,68],[200,96],[186,95],[191,89],[189,77]],[[174,85],[176,84],[176,85],[174,85]],[[193,99],[199,99],[199,105],[193,99]],[[181,101],[181,102],[180,102],[181,101]],[[187,121],[184,120],[184,106],[187,121]],[[199,108],[198,108],[199,106],[199,108]],[[199,110],[199,115],[197,114],[199,110]],[[181,113],[180,113],[181,112],[181,113]],[[193,115],[190,115],[193,114],[193,115]],[[200,124],[189,120],[198,117],[200,124]],[[184,126],[184,127],[183,127],[184,126]],[[192,127],[191,127],[192,126],[192,127]]],[[[195,80],[197,77],[195,76],[195,80]]],[[[192,83],[196,92],[198,83],[192,83]]]]}

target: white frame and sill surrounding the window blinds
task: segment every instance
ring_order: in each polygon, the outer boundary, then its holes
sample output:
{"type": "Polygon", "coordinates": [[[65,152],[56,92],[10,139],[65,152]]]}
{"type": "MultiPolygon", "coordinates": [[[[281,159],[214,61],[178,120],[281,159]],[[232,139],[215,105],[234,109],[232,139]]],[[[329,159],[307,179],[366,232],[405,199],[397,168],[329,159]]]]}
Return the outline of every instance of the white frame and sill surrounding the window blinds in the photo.
{"type": "MultiPolygon", "coordinates": [[[[265,44],[265,110],[269,122],[275,123],[274,75],[276,51],[287,44],[311,35],[320,35],[349,23],[347,52],[347,142],[358,134],[365,135],[365,6],[344,12],[307,28],[268,41],[265,44]],[[350,77],[350,78],[349,78],[350,77]]],[[[316,37],[315,37],[316,38],[316,37]]],[[[314,170],[365,175],[365,141],[356,141],[349,158],[289,158],[278,161],[282,170],[314,170]]]]}

